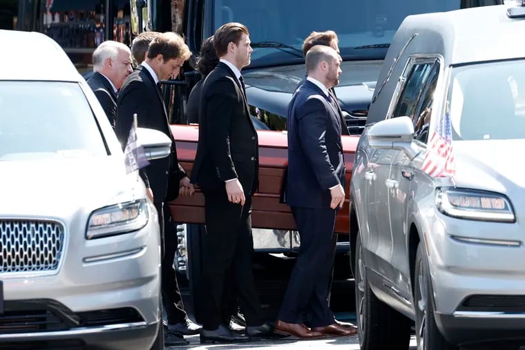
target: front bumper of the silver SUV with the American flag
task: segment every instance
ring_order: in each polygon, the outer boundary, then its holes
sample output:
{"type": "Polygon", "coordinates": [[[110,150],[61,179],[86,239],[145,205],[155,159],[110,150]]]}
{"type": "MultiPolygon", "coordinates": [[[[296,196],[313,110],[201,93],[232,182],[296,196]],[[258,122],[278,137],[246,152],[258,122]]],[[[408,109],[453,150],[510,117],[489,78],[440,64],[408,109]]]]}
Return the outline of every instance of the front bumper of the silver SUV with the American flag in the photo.
{"type": "Polygon", "coordinates": [[[425,239],[443,335],[454,344],[525,340],[519,226],[436,217],[425,239]]]}

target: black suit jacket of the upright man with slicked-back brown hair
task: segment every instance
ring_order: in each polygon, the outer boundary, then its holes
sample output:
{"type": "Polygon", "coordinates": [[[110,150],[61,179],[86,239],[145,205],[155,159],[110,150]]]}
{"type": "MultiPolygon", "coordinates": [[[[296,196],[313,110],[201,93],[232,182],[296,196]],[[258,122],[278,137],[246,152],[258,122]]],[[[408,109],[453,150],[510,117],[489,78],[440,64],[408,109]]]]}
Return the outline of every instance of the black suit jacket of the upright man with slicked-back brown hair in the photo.
{"type": "Polygon", "coordinates": [[[199,143],[191,181],[204,193],[225,194],[238,178],[246,195],[257,190],[258,138],[233,71],[220,62],[202,83],[199,143]]]}

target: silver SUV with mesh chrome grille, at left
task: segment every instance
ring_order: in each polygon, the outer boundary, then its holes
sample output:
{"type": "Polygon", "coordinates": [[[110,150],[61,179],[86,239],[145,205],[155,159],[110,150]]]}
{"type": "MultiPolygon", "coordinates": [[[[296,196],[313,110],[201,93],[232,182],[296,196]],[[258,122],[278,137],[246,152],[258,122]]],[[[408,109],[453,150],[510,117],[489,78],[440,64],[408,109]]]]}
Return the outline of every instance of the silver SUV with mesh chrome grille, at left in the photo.
{"type": "MultiPolygon", "coordinates": [[[[0,42],[12,52],[0,56],[0,347],[164,349],[144,183],[55,41],[0,30],[0,42]]],[[[137,134],[150,159],[169,154],[166,135],[137,134]]]]}

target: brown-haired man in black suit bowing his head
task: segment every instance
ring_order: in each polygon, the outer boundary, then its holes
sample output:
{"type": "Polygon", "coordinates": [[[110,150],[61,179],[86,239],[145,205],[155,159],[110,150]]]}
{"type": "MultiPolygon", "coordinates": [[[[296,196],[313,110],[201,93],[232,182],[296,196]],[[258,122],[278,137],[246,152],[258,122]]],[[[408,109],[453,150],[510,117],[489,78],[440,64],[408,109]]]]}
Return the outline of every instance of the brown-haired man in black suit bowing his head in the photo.
{"type": "Polygon", "coordinates": [[[172,75],[176,77],[190,55],[191,52],[180,35],[173,32],[158,35],[151,41],[148,58],[124,81],[117,100],[115,133],[123,146],[126,144],[135,113],[138,126],[160,130],[171,138],[171,156],[151,161],[141,173],[151,200],[157,208],[163,236],[162,302],[168,319],[167,335],[171,336],[170,340],[165,339],[166,346],[187,344],[182,336],[197,334],[200,331],[200,327],[191,322],[184,311],[173,270],[177,237],[167,227],[169,220],[164,220],[164,215],[168,214],[164,202],[174,200],[179,193],[192,195],[194,190],[186,172],[178,164],[175,139],[171,134],[164,100],[158,86],[160,80],[168,79],[172,75]],[[180,336],[179,339],[174,339],[174,335],[180,336]]]}

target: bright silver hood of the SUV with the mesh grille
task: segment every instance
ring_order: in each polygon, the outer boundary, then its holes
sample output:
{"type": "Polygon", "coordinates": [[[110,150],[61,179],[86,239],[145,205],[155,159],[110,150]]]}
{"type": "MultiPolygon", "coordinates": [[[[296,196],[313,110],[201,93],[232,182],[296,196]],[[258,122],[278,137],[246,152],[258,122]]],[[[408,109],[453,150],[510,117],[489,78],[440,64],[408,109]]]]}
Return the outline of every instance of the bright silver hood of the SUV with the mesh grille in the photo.
{"type": "Polygon", "coordinates": [[[144,194],[120,156],[0,161],[0,217],[72,217],[144,194]]]}

